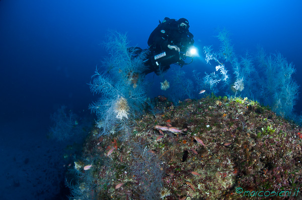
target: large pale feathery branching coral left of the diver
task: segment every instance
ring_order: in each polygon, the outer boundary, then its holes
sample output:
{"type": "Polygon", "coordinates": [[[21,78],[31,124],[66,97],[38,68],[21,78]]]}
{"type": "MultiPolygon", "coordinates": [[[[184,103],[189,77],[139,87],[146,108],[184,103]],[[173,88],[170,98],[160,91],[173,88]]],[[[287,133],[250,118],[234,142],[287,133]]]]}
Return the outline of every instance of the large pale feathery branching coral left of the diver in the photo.
{"type": "Polygon", "coordinates": [[[108,34],[105,46],[110,55],[103,63],[107,73],[105,75],[96,69],[89,83],[93,93],[102,95],[89,106],[98,117],[100,135],[126,131],[128,117],[140,114],[146,95],[143,79],[139,76],[145,67],[142,62],[145,52],[137,54],[137,48],[128,46],[126,35],[116,32],[108,34]]]}

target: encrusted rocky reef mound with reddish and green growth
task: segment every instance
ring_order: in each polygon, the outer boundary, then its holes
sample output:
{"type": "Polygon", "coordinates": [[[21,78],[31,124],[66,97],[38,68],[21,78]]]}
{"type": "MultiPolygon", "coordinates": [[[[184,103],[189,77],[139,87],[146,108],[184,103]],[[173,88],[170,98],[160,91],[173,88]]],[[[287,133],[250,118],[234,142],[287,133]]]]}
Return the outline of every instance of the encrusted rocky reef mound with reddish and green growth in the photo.
{"type": "Polygon", "coordinates": [[[302,198],[302,135],[293,122],[241,97],[154,103],[128,133],[90,132],[70,166],[72,199],[302,198]]]}

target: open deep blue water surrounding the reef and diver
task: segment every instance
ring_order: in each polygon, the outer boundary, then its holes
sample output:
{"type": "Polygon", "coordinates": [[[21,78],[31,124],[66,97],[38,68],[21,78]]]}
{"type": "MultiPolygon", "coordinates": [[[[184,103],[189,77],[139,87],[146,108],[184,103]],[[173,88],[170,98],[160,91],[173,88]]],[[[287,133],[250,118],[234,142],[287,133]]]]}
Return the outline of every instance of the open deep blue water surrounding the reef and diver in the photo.
{"type": "MultiPolygon", "coordinates": [[[[50,199],[59,191],[66,144],[47,139],[49,117],[61,105],[89,112],[96,96],[86,83],[107,55],[100,44],[108,29],[147,48],[159,20],[186,18],[202,55],[205,45],[219,47],[213,36],[226,28],[237,54],[255,52],[258,44],[280,52],[302,85],[301,8],[300,1],[0,1],[0,199],[50,199]]],[[[201,56],[182,69],[209,66],[201,56]]]]}

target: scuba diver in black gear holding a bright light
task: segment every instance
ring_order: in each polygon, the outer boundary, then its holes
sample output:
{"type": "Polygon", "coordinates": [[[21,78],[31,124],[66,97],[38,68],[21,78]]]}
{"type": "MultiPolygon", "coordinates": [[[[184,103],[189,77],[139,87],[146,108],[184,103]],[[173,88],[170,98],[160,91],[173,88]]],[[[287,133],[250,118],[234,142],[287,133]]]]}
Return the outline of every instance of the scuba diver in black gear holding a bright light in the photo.
{"type": "Polygon", "coordinates": [[[150,34],[148,39],[149,52],[144,64],[144,74],[155,72],[157,75],[166,72],[171,64],[180,66],[193,61],[193,35],[189,32],[189,21],[165,18],[150,34]],[[185,63],[186,57],[192,57],[185,63]]]}

